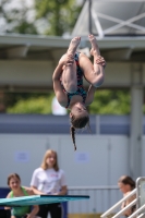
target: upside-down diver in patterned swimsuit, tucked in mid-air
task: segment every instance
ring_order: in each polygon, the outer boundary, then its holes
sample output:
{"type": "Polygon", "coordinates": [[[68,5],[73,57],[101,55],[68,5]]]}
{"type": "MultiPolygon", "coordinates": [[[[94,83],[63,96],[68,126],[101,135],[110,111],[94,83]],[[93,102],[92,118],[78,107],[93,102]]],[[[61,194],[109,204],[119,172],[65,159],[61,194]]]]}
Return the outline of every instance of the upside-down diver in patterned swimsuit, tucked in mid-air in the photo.
{"type": "Polygon", "coordinates": [[[94,64],[84,53],[77,51],[81,37],[74,37],[52,75],[56,97],[62,107],[70,110],[70,131],[74,149],[76,149],[75,129],[89,128],[86,107],[93,102],[95,90],[102,84],[105,76],[106,61],[100,57],[97,40],[94,35],[88,35],[88,38],[94,64]],[[87,92],[83,87],[83,77],[89,83],[87,92]]]}

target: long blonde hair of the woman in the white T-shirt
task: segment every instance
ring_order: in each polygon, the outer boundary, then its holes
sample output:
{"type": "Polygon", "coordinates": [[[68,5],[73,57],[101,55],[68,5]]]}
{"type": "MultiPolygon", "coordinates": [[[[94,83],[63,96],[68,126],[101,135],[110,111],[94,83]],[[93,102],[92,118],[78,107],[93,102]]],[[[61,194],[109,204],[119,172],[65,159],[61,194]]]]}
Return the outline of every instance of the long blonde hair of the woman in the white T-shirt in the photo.
{"type": "Polygon", "coordinates": [[[55,169],[56,171],[59,171],[58,155],[57,155],[57,153],[56,153],[55,150],[52,150],[52,149],[48,149],[48,150],[46,152],[40,167],[41,167],[44,170],[47,170],[47,169],[49,168],[49,166],[47,165],[47,158],[50,157],[51,155],[55,155],[55,157],[56,157],[56,162],[55,162],[55,165],[53,165],[53,169],[55,169]]]}

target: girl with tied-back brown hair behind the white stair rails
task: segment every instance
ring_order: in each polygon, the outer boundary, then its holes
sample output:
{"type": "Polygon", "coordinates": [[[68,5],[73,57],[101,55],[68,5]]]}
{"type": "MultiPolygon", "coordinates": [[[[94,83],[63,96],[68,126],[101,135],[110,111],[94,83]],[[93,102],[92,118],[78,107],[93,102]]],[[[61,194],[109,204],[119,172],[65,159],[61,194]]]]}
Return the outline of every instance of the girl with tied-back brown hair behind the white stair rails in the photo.
{"type": "MultiPolygon", "coordinates": [[[[129,195],[135,189],[134,180],[129,175],[122,175],[118,181],[118,186],[120,191],[123,193],[123,197],[129,195]]],[[[129,205],[132,201],[136,198],[136,195],[132,195],[125,202],[122,203],[121,209],[129,205]]],[[[132,215],[136,209],[136,205],[133,205],[130,209],[128,209],[123,215],[129,217],[132,215]]]]}

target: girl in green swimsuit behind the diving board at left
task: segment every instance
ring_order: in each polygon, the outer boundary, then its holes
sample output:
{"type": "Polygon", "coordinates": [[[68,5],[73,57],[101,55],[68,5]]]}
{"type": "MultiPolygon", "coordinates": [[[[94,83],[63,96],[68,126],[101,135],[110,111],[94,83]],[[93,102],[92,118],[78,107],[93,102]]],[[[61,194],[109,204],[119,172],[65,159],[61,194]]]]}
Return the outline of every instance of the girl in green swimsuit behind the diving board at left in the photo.
{"type": "MultiPolygon", "coordinates": [[[[8,185],[11,192],[8,194],[7,198],[34,195],[31,189],[21,186],[21,178],[16,173],[12,173],[8,177],[8,185]]],[[[11,218],[35,218],[39,207],[34,205],[33,208],[31,206],[23,206],[12,208],[4,207],[4,209],[11,209],[11,218]]]]}

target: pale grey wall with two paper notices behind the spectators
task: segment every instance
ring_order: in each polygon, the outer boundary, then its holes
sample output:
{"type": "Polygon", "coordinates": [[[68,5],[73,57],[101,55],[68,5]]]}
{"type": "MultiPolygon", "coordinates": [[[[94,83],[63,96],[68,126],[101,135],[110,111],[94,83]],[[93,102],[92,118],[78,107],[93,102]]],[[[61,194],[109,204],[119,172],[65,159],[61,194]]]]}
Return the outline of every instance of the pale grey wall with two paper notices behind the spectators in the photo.
{"type": "Polygon", "coordinates": [[[117,185],[118,178],[128,173],[126,136],[76,134],[76,146],[74,152],[70,135],[0,134],[0,186],[7,185],[11,172],[29,185],[48,148],[58,152],[69,186],[117,185]]]}

